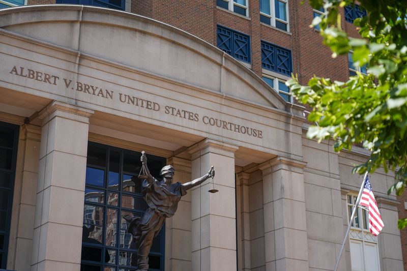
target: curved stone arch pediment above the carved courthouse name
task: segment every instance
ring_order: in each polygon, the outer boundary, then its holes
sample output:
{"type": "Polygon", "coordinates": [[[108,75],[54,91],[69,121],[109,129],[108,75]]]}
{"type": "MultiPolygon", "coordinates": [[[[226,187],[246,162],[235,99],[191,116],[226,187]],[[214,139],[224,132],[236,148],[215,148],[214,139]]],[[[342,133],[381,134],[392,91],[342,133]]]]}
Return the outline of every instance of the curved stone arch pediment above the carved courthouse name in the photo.
{"type": "MultiPolygon", "coordinates": [[[[110,64],[278,111],[300,112],[236,59],[150,18],[97,7],[41,5],[1,10],[0,27],[3,34],[58,50],[57,58],[65,64],[53,65],[54,59],[44,49],[40,52],[44,59],[36,61],[60,73],[73,72],[76,79],[91,73],[90,68],[103,72],[102,64],[110,64]]],[[[109,81],[109,74],[105,77],[109,81]]]]}

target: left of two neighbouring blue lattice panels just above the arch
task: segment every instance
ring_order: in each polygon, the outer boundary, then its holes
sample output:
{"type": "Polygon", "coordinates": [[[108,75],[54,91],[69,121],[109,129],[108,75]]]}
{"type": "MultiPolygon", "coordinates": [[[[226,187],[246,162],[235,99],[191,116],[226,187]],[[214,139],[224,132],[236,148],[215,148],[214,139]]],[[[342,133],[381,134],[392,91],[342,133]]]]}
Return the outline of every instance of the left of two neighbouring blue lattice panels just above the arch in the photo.
{"type": "Polygon", "coordinates": [[[251,62],[250,36],[220,25],[216,33],[219,49],[240,61],[251,62]]]}

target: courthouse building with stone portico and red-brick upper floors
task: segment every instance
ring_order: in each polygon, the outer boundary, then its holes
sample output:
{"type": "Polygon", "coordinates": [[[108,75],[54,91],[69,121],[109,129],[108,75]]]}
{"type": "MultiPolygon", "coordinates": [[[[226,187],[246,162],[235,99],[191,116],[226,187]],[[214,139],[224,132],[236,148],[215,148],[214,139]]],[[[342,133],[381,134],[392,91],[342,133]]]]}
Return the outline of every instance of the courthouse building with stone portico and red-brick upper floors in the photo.
{"type": "MultiPolygon", "coordinates": [[[[134,270],[122,216],[145,209],[133,181],[145,150],[152,172],[171,164],[177,182],[214,165],[219,190],[205,182],[182,198],[155,240],[152,270],[333,270],[362,181],[351,169],[368,154],[307,139],[306,108],[277,92],[287,71],[302,83],[350,72],[308,27],[314,11],[286,2],[287,24],[271,17],[272,26],[259,23],[267,12],[254,1],[121,3],[150,18],[72,5],[0,10],[0,268],[134,270]],[[238,61],[222,37],[250,54],[232,50],[238,61]],[[287,57],[262,55],[271,50],[287,57]]],[[[393,178],[372,174],[386,226],[370,235],[359,209],[339,270],[403,269],[393,178]]]]}

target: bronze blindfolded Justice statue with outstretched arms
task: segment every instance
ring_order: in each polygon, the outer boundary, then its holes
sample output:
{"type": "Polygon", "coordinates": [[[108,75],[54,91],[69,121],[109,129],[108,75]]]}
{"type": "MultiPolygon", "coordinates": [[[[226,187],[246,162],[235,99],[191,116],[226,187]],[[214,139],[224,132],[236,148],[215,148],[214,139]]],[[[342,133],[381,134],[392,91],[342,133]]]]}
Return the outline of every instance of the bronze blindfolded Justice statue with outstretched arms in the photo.
{"type": "Polygon", "coordinates": [[[212,166],[207,174],[189,183],[172,184],[172,177],[174,176],[172,166],[164,166],[161,169],[160,176],[162,180],[159,181],[150,174],[144,152],[142,152],[140,160],[145,173],[139,176],[143,179],[141,194],[147,201],[149,208],[147,208],[142,218],[126,216],[125,219],[130,222],[127,230],[133,235],[130,247],[138,249],[137,257],[134,254],[131,257],[131,265],[137,266],[138,271],[147,271],[153,238],[160,232],[165,219],[175,214],[178,202],[182,196],[187,194],[188,189],[200,185],[210,177],[213,178],[215,170],[212,166]]]}

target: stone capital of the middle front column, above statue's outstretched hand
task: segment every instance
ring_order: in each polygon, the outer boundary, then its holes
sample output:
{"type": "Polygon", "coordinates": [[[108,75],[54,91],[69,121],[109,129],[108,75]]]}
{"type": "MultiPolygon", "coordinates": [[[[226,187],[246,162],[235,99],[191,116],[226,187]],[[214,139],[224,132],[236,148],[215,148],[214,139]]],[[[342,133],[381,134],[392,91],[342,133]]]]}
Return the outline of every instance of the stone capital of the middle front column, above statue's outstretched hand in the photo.
{"type": "Polygon", "coordinates": [[[189,147],[187,151],[192,155],[192,159],[208,152],[235,158],[235,152],[238,148],[238,146],[229,143],[207,138],[189,147]]]}

